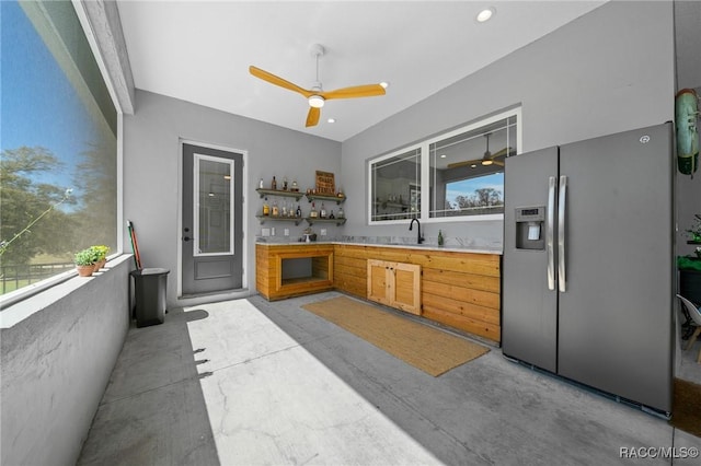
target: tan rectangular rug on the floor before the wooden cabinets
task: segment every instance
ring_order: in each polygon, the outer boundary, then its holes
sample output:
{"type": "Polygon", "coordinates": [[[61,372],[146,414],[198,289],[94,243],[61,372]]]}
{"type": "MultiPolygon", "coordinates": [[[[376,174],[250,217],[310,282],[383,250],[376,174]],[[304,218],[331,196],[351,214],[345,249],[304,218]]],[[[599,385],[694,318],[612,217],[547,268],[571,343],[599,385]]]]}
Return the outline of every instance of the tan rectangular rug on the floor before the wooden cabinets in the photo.
{"type": "Polygon", "coordinates": [[[302,307],[433,376],[489,351],[481,345],[346,296],[302,307]]]}

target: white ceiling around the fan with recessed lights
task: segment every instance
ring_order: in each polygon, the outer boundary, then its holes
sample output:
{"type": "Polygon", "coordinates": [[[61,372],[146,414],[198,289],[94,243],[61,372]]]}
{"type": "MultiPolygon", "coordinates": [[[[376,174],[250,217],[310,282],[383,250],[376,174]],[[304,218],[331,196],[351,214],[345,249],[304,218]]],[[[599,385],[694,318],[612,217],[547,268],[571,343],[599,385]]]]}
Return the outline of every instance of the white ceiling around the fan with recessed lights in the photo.
{"type": "Polygon", "coordinates": [[[344,141],[604,3],[125,0],[118,9],[137,89],[344,141]],[[496,14],[480,24],[485,7],[496,14]],[[388,81],[387,95],[329,101],[304,128],[304,98],[249,66],[309,89],[312,44],[326,48],[324,90],[388,81]]]}

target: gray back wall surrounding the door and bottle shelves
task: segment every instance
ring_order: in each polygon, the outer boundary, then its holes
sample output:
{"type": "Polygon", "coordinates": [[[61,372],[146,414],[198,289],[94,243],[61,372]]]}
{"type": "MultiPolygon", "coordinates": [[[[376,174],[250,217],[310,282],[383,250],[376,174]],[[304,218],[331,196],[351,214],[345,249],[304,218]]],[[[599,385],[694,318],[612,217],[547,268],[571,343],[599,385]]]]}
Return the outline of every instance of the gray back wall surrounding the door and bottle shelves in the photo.
{"type": "MultiPolygon", "coordinates": [[[[244,176],[244,218],[248,223],[244,247],[248,259],[250,293],[255,293],[255,235],[261,225],[255,219],[262,200],[255,188],[262,177],[266,187],[273,175],[280,182],[297,178],[300,189],[314,185],[317,170],[341,173],[341,143],[317,138],[250,118],[194,105],[164,95],[137,90],[136,113],[124,117],[124,212],[135,223],[141,261],[145,267],[163,267],[168,276],[169,305],[182,305],[177,300],[177,251],[181,242],[179,198],[181,175],[180,138],[204,144],[248,151],[244,176]]],[[[309,203],[301,200],[304,214],[309,203]]],[[[267,222],[276,226],[277,236],[285,228],[290,237],[299,237],[306,225],[267,222]]],[[[329,226],[335,234],[335,226],[329,226]]],[[[314,230],[319,232],[317,226],[314,230]]],[[[125,238],[126,238],[125,231],[125,238]]],[[[128,240],[125,244],[129,244],[128,240]]]]}

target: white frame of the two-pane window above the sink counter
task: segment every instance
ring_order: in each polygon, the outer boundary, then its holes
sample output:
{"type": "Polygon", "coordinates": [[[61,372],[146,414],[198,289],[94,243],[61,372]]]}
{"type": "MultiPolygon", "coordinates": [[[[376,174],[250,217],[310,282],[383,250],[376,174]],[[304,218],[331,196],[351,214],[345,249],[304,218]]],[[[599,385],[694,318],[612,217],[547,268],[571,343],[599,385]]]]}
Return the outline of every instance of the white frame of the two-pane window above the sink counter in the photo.
{"type": "Polygon", "coordinates": [[[393,224],[404,224],[406,223],[406,219],[398,219],[398,220],[372,220],[372,166],[387,159],[391,159],[393,156],[402,155],[409,151],[418,150],[421,153],[421,209],[420,215],[416,218],[422,223],[447,223],[447,222],[484,222],[484,221],[495,221],[504,220],[504,213],[489,213],[489,214],[474,214],[474,215],[449,215],[449,217],[430,217],[430,176],[432,176],[432,166],[430,166],[430,144],[435,142],[440,142],[445,139],[452,138],[455,136],[459,136],[463,132],[474,131],[480,129],[481,127],[492,125],[498,120],[503,120],[509,117],[516,118],[516,155],[521,153],[522,147],[522,118],[521,118],[521,106],[517,106],[514,108],[509,108],[506,110],[498,112],[496,114],[480,118],[470,124],[462,125],[459,128],[447,130],[445,132],[432,136],[430,138],[423,139],[418,142],[404,145],[400,149],[392,150],[391,152],[384,153],[382,155],[374,156],[368,159],[367,161],[367,198],[366,198],[366,212],[367,212],[367,225],[376,226],[376,225],[393,225],[393,224]]]}

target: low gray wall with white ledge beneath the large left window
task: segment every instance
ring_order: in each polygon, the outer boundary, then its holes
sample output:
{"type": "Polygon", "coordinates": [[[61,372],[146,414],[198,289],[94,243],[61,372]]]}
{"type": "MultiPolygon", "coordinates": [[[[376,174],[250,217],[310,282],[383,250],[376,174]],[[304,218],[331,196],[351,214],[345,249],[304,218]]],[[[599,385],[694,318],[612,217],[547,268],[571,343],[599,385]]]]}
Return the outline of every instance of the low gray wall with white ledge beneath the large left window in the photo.
{"type": "Polygon", "coordinates": [[[2,311],[1,464],[76,464],[129,328],[131,264],[2,311]]]}

